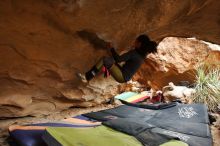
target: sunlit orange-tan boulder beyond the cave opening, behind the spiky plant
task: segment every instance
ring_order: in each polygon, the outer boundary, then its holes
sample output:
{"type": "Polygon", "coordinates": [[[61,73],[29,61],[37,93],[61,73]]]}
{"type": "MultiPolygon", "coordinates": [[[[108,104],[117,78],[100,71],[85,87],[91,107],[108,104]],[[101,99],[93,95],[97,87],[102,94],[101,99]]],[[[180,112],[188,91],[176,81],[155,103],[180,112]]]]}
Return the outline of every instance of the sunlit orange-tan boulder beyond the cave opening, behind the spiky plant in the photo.
{"type": "Polygon", "coordinates": [[[220,65],[220,46],[195,38],[164,38],[157,47],[157,54],[150,54],[134,77],[162,89],[169,82],[195,82],[195,69],[201,64],[220,65]]]}

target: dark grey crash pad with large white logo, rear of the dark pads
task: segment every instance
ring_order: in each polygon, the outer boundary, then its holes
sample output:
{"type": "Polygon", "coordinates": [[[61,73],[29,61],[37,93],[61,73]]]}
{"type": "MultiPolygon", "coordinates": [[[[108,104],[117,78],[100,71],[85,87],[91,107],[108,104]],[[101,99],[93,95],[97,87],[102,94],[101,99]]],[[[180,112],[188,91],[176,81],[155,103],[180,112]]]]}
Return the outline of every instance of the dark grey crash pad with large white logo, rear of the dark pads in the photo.
{"type": "MultiPolygon", "coordinates": [[[[156,107],[159,105],[156,104],[156,107]]],[[[146,106],[147,107],[147,106],[146,106]]],[[[207,107],[203,104],[176,104],[169,108],[159,110],[139,108],[130,105],[121,105],[116,108],[83,114],[84,116],[99,121],[108,121],[117,118],[158,117],[161,121],[196,122],[209,124],[207,107]]],[[[152,107],[149,106],[150,108],[152,107]]]]}

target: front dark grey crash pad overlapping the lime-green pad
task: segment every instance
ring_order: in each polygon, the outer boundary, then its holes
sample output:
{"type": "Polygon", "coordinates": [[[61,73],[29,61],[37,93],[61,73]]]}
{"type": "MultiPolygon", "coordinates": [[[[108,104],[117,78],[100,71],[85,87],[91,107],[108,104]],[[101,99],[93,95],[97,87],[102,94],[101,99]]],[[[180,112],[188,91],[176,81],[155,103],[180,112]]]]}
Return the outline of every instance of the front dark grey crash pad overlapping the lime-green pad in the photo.
{"type": "Polygon", "coordinates": [[[181,123],[181,121],[169,123],[160,120],[155,123],[158,119],[152,119],[118,118],[103,122],[103,124],[117,131],[133,135],[146,146],[158,146],[171,139],[180,139],[190,146],[212,145],[211,133],[207,124],[181,123]]]}

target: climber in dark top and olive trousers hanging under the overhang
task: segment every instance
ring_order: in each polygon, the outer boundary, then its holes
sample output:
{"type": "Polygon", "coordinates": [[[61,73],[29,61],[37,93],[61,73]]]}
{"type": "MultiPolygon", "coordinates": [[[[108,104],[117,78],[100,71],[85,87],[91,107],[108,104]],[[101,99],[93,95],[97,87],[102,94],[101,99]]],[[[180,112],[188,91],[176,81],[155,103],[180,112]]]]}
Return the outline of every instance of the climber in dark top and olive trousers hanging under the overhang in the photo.
{"type": "Polygon", "coordinates": [[[82,82],[88,82],[94,78],[101,70],[104,71],[105,76],[112,75],[112,77],[119,83],[129,81],[136,73],[138,68],[144,62],[145,57],[150,53],[157,52],[157,43],[151,41],[147,35],[140,35],[134,42],[134,49],[118,55],[111,43],[108,44],[108,49],[112,53],[112,57],[103,57],[94,65],[91,70],[84,74],[78,73],[82,82]],[[124,65],[119,63],[124,62],[124,65]]]}

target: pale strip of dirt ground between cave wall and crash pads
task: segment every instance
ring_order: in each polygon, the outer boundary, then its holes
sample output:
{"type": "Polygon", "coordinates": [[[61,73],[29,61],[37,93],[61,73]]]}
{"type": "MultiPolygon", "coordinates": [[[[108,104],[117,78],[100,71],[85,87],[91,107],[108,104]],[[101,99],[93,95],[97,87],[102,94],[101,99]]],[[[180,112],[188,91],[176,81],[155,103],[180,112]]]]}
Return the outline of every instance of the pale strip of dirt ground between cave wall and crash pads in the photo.
{"type": "MultiPolygon", "coordinates": [[[[51,122],[51,121],[61,120],[64,118],[73,117],[83,113],[99,111],[113,107],[114,107],[113,105],[99,105],[91,108],[71,108],[68,110],[64,110],[60,113],[53,113],[48,116],[23,117],[23,118],[0,120],[0,146],[9,146],[7,143],[7,138],[8,138],[7,129],[10,125],[51,122]]],[[[214,125],[212,125],[210,128],[213,136],[213,146],[220,146],[220,129],[214,125]]]]}

